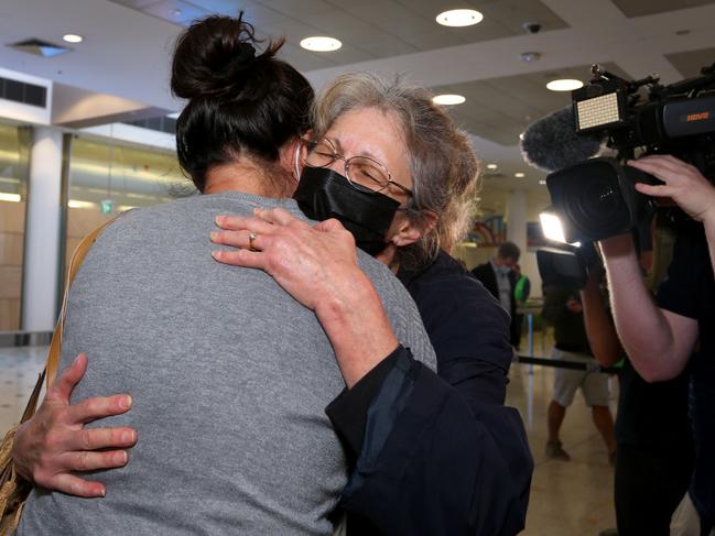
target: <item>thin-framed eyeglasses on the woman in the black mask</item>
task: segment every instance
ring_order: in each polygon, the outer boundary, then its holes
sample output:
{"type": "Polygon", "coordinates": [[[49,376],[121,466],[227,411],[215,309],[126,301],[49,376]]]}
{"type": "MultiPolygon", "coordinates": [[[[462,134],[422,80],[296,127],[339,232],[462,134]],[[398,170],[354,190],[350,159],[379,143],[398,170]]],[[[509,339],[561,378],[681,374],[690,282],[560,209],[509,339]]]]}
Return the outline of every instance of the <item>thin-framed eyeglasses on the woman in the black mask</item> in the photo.
{"type": "Polygon", "coordinates": [[[351,156],[346,158],[337,152],[333,142],[327,138],[318,141],[306,142],[307,156],[305,165],[311,167],[327,167],[333,162],[345,161],[345,176],[350,185],[362,192],[382,193],[394,187],[408,196],[412,190],[400,183],[396,183],[390,171],[370,156],[351,156]]]}

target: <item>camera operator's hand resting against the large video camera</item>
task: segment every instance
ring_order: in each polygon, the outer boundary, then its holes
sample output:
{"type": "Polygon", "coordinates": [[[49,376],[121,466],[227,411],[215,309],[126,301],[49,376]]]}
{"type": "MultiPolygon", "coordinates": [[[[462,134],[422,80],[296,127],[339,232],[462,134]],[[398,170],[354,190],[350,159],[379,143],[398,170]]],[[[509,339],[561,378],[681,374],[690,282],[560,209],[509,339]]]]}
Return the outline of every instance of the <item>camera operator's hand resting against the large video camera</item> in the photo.
{"type": "Polygon", "coordinates": [[[641,194],[671,197],[697,221],[715,219],[715,187],[695,166],[670,155],[643,156],[629,161],[628,165],[665,183],[657,186],[638,183],[636,189],[641,194]]]}

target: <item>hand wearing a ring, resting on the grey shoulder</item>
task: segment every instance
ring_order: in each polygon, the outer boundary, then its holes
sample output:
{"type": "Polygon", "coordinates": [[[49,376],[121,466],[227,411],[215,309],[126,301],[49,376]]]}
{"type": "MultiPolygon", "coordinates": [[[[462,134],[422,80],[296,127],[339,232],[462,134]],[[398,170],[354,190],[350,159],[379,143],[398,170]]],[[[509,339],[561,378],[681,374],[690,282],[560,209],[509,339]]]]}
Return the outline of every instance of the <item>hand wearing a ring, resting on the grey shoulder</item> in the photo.
{"type": "Polygon", "coordinates": [[[311,226],[282,208],[256,209],[253,217],[219,216],[223,231],[212,241],[238,250],[217,250],[214,259],[236,266],[261,269],[304,306],[316,310],[340,300],[364,274],[357,264],[355,239],[339,221],[311,226]],[[254,251],[250,248],[254,233],[254,251]]]}

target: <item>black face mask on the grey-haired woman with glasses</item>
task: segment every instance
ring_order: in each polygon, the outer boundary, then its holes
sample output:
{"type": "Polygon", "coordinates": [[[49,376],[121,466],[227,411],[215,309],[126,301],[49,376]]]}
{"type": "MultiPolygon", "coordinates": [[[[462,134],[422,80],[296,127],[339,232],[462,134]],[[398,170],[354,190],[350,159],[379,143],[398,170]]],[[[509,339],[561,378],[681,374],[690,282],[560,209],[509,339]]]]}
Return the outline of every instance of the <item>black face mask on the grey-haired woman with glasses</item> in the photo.
{"type": "Polygon", "coordinates": [[[400,207],[384,194],[354,188],[343,175],[325,167],[304,167],[293,199],[311,219],[337,219],[370,255],[387,247],[384,237],[400,207]]]}

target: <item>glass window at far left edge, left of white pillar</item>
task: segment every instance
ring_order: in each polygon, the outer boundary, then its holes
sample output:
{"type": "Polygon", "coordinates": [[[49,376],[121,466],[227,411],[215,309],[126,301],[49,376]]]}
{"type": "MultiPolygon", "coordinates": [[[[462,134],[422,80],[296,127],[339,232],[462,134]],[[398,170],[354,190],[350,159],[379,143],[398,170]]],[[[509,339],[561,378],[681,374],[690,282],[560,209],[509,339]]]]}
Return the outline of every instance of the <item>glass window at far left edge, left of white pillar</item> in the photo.
{"type": "Polygon", "coordinates": [[[20,329],[30,131],[0,123],[0,331],[20,329]]]}

